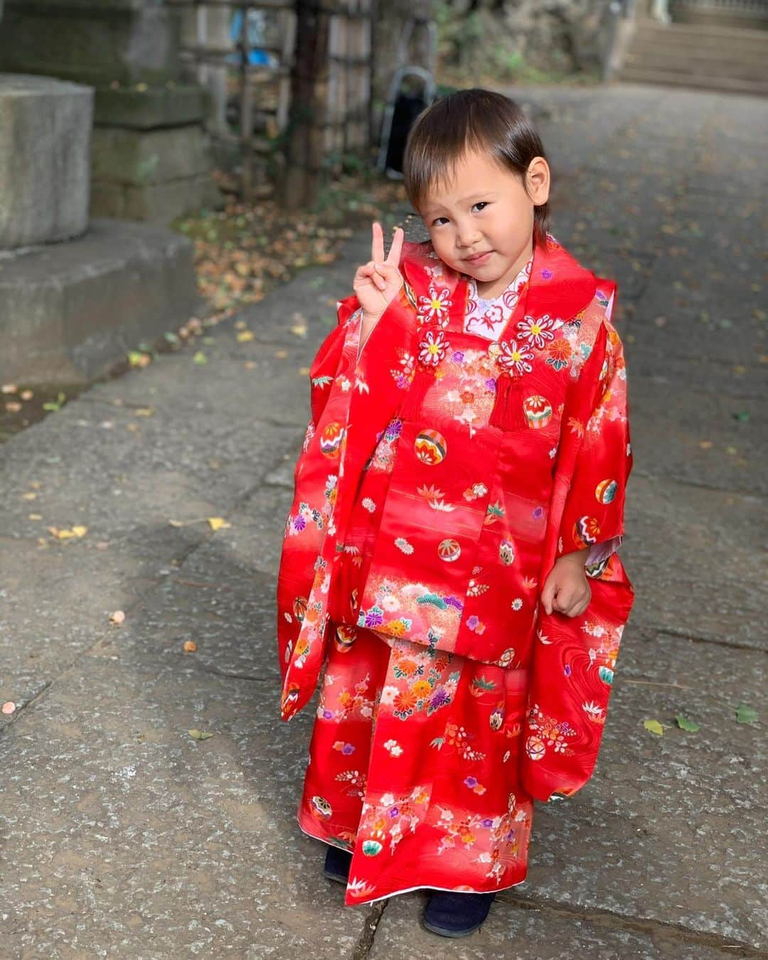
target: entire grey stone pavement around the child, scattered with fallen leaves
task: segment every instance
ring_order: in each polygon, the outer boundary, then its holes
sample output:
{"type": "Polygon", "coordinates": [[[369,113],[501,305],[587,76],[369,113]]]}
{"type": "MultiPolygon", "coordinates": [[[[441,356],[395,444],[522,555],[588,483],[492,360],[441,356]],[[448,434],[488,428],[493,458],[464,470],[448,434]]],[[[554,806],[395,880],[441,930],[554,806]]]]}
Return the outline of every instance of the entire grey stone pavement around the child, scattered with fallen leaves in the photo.
{"type": "Polygon", "coordinates": [[[420,893],[345,907],[296,826],[312,718],[278,719],[276,564],[302,368],[361,231],[243,314],[252,342],[222,324],[0,447],[4,958],[766,956],[764,721],[735,708],[764,688],[768,105],[515,93],[544,116],[553,232],[618,280],[630,366],[637,599],[593,779],[538,804],[528,879],[465,941],[420,929],[420,893]]]}

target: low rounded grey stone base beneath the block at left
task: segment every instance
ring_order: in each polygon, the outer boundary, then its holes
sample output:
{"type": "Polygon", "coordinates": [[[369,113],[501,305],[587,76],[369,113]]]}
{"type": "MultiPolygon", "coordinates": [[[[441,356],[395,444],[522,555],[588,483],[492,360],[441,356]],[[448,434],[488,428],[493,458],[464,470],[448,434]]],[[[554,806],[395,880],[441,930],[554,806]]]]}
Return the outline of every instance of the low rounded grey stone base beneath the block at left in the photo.
{"type": "Polygon", "coordinates": [[[70,243],[0,258],[0,383],[89,383],[200,308],[192,245],[92,221],[70,243]]]}

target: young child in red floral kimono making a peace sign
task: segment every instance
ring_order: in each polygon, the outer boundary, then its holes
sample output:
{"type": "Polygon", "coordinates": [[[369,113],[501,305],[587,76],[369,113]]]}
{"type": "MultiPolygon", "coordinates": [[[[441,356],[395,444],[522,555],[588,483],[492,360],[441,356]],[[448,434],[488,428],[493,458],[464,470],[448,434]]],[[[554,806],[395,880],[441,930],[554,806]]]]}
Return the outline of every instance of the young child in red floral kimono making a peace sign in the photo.
{"type": "Polygon", "coordinates": [[[430,243],[372,259],[310,371],[277,589],[285,719],[324,668],[299,808],[359,904],[432,891],[476,929],[526,876],[533,800],[591,775],[632,587],[615,284],[546,231],[506,97],[426,110],[405,186],[430,243]]]}

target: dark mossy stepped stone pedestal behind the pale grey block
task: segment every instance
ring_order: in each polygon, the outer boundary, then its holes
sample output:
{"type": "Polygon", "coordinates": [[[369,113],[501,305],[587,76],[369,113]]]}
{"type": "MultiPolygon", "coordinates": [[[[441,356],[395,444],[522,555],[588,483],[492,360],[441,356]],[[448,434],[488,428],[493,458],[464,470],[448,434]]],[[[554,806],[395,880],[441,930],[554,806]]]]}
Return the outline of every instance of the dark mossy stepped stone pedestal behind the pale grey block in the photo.
{"type": "Polygon", "coordinates": [[[95,88],[91,214],[168,223],[218,204],[206,97],[162,0],[6,0],[0,70],[95,88]]]}

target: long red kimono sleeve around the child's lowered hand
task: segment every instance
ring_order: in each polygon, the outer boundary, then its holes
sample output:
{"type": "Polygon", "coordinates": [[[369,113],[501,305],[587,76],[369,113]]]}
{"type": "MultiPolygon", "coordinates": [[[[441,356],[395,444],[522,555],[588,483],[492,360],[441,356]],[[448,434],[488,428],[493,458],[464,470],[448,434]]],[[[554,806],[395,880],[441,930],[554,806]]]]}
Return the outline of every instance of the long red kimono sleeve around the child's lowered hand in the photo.
{"type": "Polygon", "coordinates": [[[592,775],[619,641],[633,603],[632,585],[615,552],[624,533],[632,467],[626,369],[621,342],[607,318],[595,350],[602,357],[596,352],[587,365],[583,416],[565,424],[575,452],[557,547],[558,556],[584,547],[594,551],[587,569],[592,595],[586,612],[575,617],[539,608],[529,686],[521,775],[531,796],[544,801],[575,793],[592,775]]]}

